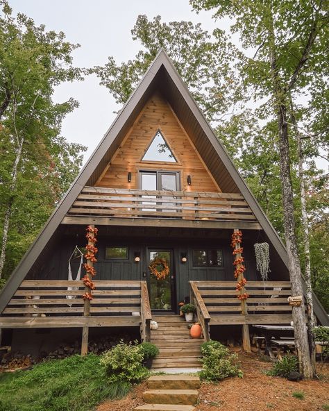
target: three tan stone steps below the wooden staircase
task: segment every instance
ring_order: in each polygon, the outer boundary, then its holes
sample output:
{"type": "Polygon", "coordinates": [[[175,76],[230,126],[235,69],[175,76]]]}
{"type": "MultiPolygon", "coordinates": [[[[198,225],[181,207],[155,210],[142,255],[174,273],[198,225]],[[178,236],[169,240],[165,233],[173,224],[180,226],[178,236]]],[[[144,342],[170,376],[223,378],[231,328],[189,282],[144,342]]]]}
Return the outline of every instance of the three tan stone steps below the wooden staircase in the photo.
{"type": "Polygon", "coordinates": [[[193,411],[198,401],[200,379],[198,376],[152,376],[143,393],[146,404],[136,411],[193,411]]]}

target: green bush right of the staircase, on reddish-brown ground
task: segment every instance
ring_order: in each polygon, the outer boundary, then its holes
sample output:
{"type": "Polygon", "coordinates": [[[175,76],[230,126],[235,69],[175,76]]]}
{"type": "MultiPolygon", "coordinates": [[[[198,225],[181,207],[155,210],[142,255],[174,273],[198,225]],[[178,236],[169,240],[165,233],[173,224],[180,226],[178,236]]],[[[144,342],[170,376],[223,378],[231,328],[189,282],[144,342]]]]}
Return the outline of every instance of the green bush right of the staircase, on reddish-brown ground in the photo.
{"type": "Polygon", "coordinates": [[[218,341],[204,342],[201,345],[201,364],[203,371],[200,376],[204,380],[219,381],[224,378],[239,376],[242,371],[237,363],[237,355],[230,354],[226,346],[218,341]]]}

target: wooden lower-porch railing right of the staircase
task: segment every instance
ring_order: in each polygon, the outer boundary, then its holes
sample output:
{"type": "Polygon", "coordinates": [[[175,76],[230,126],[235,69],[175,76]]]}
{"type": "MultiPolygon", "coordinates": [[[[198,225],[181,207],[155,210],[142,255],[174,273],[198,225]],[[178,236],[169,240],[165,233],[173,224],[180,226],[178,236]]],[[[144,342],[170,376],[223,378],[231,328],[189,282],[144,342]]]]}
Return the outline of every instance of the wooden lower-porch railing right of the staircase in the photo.
{"type": "Polygon", "coordinates": [[[246,314],[237,299],[235,281],[190,281],[210,314],[210,324],[290,324],[289,281],[248,281],[246,314]]]}

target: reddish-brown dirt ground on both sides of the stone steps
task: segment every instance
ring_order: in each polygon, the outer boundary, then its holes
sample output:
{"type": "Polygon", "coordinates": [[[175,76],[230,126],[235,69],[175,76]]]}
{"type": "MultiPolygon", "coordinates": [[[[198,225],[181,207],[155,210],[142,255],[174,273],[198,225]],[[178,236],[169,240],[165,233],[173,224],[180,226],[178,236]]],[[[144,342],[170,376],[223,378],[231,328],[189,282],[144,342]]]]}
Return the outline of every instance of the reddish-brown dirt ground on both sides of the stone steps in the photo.
{"type": "MultiPolygon", "coordinates": [[[[238,354],[244,377],[227,378],[217,385],[203,383],[196,411],[329,411],[329,364],[318,370],[320,380],[295,383],[265,375],[272,365],[258,354],[238,354]],[[304,398],[292,396],[295,392],[303,393],[304,398]]],[[[146,383],[142,383],[125,399],[103,403],[97,411],[133,411],[142,405],[145,389],[146,383]]]]}

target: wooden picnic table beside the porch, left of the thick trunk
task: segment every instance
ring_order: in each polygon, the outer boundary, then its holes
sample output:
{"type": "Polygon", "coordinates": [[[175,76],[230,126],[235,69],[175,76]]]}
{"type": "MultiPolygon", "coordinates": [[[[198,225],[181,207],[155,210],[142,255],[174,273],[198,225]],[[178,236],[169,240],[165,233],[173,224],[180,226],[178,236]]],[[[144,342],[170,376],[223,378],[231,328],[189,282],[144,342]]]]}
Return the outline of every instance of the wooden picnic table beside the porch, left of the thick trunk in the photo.
{"type": "Polygon", "coordinates": [[[281,350],[284,347],[293,347],[295,342],[293,338],[287,338],[287,335],[293,335],[294,327],[293,326],[271,326],[271,325],[255,325],[254,328],[262,330],[265,339],[265,355],[273,360],[280,360],[281,350]],[[285,337],[285,338],[281,338],[285,337]],[[277,355],[274,355],[272,350],[272,344],[277,348],[277,355]]]}

